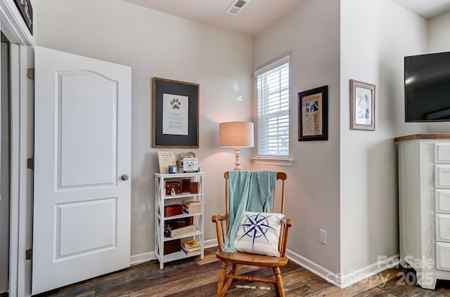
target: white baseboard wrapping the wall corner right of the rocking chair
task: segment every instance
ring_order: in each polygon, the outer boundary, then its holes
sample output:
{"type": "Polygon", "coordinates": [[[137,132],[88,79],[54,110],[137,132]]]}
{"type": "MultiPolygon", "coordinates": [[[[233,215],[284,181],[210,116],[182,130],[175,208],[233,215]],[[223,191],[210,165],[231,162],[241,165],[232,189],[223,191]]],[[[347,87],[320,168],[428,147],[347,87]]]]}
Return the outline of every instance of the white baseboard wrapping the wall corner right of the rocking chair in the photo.
{"type": "Polygon", "coordinates": [[[373,263],[371,265],[367,265],[364,268],[360,268],[358,270],[350,270],[347,273],[335,273],[330,270],[323,268],[321,265],[314,263],[308,258],[304,258],[303,256],[295,253],[293,251],[286,251],[286,255],[289,260],[301,265],[303,268],[313,272],[315,275],[322,277],[327,282],[338,286],[340,289],[344,289],[347,286],[351,286],[356,282],[360,282],[363,279],[371,277],[372,275],[376,275],[378,272],[382,272],[389,268],[398,266],[400,263],[399,254],[397,253],[394,256],[389,258],[383,258],[378,260],[378,262],[373,263]]]}

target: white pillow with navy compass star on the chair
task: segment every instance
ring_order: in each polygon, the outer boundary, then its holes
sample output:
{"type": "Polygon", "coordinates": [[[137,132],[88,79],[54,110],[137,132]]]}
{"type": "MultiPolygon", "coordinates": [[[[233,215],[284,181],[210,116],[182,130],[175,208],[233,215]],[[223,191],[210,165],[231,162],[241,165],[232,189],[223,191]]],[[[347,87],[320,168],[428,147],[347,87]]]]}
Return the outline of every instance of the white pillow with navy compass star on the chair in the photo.
{"type": "Polygon", "coordinates": [[[284,220],[282,213],[245,211],[233,243],[234,249],[246,253],[280,256],[278,239],[284,220]]]}

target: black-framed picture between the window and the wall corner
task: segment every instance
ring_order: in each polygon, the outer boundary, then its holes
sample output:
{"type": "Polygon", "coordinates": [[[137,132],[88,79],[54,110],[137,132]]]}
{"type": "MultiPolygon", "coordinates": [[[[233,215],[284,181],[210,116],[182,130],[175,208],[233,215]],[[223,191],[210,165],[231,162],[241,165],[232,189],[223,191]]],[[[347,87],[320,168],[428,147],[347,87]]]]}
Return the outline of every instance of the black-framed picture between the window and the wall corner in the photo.
{"type": "Polygon", "coordinates": [[[328,140],[328,85],[298,93],[298,141],[328,140]]]}

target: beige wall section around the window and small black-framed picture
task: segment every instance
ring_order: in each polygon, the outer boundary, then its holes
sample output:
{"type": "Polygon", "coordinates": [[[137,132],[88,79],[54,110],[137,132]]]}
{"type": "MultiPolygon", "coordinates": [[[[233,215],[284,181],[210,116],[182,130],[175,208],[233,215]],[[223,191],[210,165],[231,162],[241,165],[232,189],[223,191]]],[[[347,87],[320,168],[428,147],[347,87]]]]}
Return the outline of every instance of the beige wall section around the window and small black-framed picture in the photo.
{"type": "MultiPolygon", "coordinates": [[[[316,268],[335,273],[340,269],[339,7],[339,1],[304,0],[253,40],[255,69],[290,54],[290,157],[294,163],[271,168],[288,173],[285,212],[293,219],[288,249],[314,262],[316,268]],[[324,85],[328,85],[328,140],[299,142],[297,93],[324,85]],[[319,229],[328,232],[328,245],[319,243],[319,229]]],[[[254,166],[262,168],[267,166],[254,166]]]]}

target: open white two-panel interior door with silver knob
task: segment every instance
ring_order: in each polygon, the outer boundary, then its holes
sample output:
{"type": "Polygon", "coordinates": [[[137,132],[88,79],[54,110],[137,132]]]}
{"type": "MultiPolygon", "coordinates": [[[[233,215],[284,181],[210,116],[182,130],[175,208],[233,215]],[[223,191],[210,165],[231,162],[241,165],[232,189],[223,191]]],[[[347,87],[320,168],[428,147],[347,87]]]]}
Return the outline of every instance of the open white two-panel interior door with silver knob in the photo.
{"type": "Polygon", "coordinates": [[[129,267],[131,195],[131,68],[34,54],[32,294],[129,267]]]}

